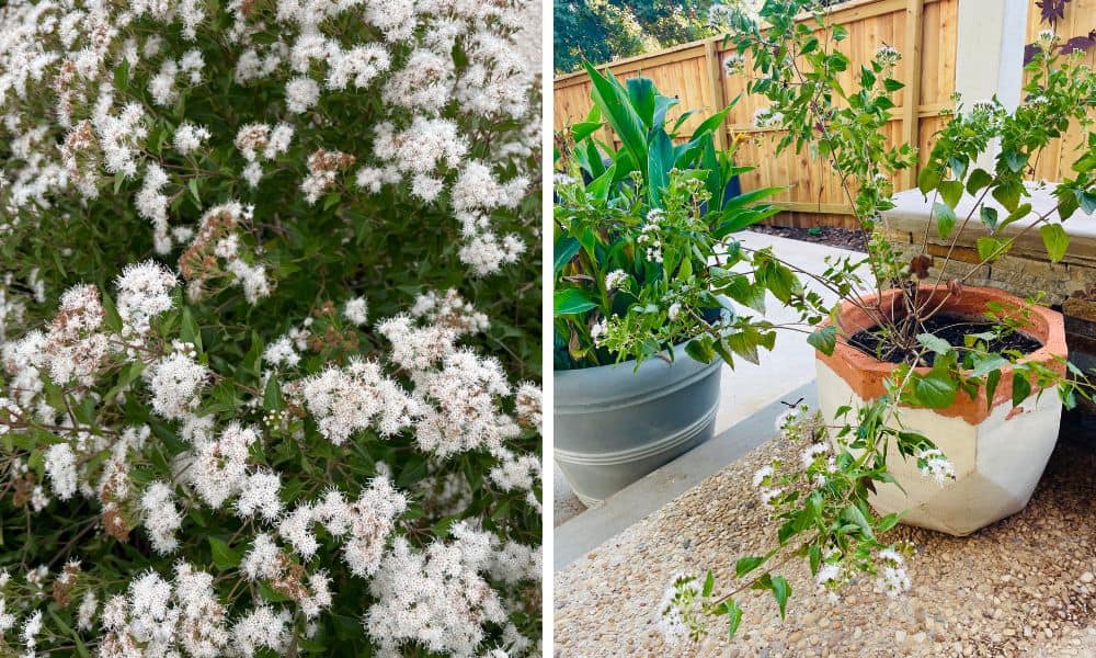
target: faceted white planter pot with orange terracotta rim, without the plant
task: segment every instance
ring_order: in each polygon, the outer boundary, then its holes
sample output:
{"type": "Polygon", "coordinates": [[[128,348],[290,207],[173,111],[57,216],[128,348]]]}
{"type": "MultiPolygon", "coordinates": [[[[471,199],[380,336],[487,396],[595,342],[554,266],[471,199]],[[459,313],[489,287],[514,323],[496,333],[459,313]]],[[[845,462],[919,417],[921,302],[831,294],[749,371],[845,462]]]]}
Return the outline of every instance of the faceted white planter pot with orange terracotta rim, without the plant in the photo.
{"type": "MultiPolygon", "coordinates": [[[[943,300],[947,288],[924,286],[922,294],[943,300]]],[[[875,295],[866,298],[869,304],[874,300],[875,295]]],[[[898,291],[884,291],[881,306],[898,308],[898,291]]],[[[984,320],[990,302],[1003,304],[1006,311],[1028,308],[1030,324],[1023,331],[1041,342],[1042,348],[1025,361],[1064,373],[1064,363],[1058,360],[1066,356],[1061,314],[1028,305],[995,288],[980,287],[963,288],[959,298],[945,302],[943,310],[984,320]]],[[[853,336],[875,322],[846,303],[838,314],[838,325],[844,336],[853,336]]],[[[838,343],[832,355],[818,352],[815,362],[819,401],[826,418],[833,418],[843,405],[855,409],[882,396],[883,381],[895,367],[844,343],[838,343]]],[[[1024,509],[1058,441],[1062,405],[1055,392],[1039,395],[1032,382],[1031,395],[1014,409],[1012,370],[1002,371],[991,405],[986,405],[983,388],[973,400],[960,392],[956,404],[947,409],[899,409],[903,426],[923,433],[944,451],[955,465],[956,479],[940,487],[923,477],[916,462],[902,458],[892,444],[887,465],[905,492],[894,485],[879,486],[870,500],[876,511],[905,511],[903,523],[962,536],[1024,509]]]]}

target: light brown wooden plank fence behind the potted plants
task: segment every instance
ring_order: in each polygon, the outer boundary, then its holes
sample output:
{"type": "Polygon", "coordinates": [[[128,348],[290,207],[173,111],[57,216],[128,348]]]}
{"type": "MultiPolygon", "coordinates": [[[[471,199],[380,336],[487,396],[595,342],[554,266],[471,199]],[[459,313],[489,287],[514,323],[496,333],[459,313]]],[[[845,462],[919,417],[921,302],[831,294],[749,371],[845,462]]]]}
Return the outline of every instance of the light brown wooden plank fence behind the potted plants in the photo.
{"type": "MultiPolygon", "coordinates": [[[[892,144],[910,143],[922,152],[932,150],[934,135],[940,129],[951,107],[955,92],[958,4],[960,0],[853,0],[834,9],[831,22],[844,25],[848,38],[842,43],[843,52],[852,63],[841,80],[845,89],[853,89],[854,76],[859,75],[860,64],[868,61],[880,44],[890,44],[902,53],[894,77],[906,83],[897,92],[893,120],[887,126],[892,144]]],[[[1039,24],[1039,10],[1031,0],[1028,16],[1028,42],[1046,25],[1039,24]]],[[[1062,34],[1074,26],[1082,31],[1085,22],[1096,23],[1096,0],[1074,0],[1069,5],[1062,34]],[[1076,25],[1073,25],[1076,23],[1076,25]]],[[[735,134],[747,134],[737,151],[737,161],[757,169],[743,177],[743,190],[768,185],[787,185],[788,190],[774,198],[787,212],[774,218],[774,224],[785,226],[856,226],[848,201],[837,177],[829,164],[794,148],[775,155],[774,129],[753,126],[754,112],[768,106],[763,97],[745,94],[742,76],[723,72],[723,57],[731,50],[723,46],[723,37],[716,36],[628,59],[620,59],[597,67],[613,71],[618,78],[647,76],[654,80],[659,91],[681,99],[677,111],[690,109],[717,110],[727,105],[740,93],[738,104],[728,114],[723,129],[717,133],[717,145],[726,146],[735,134]]],[[[746,61],[749,68],[750,63],[746,61]]],[[[581,121],[590,111],[590,81],[585,72],[561,76],[555,82],[555,128],[581,121]]],[[[671,114],[671,117],[673,114],[671,114]]],[[[683,134],[700,120],[685,123],[683,134]]],[[[603,138],[608,139],[608,134],[603,138]]],[[[1078,136],[1071,136],[1070,144],[1078,136]]],[[[1070,147],[1055,146],[1039,161],[1038,177],[1054,180],[1061,171],[1069,171],[1070,147]]],[[[895,189],[915,185],[916,172],[905,171],[893,181],[895,189]]]]}

